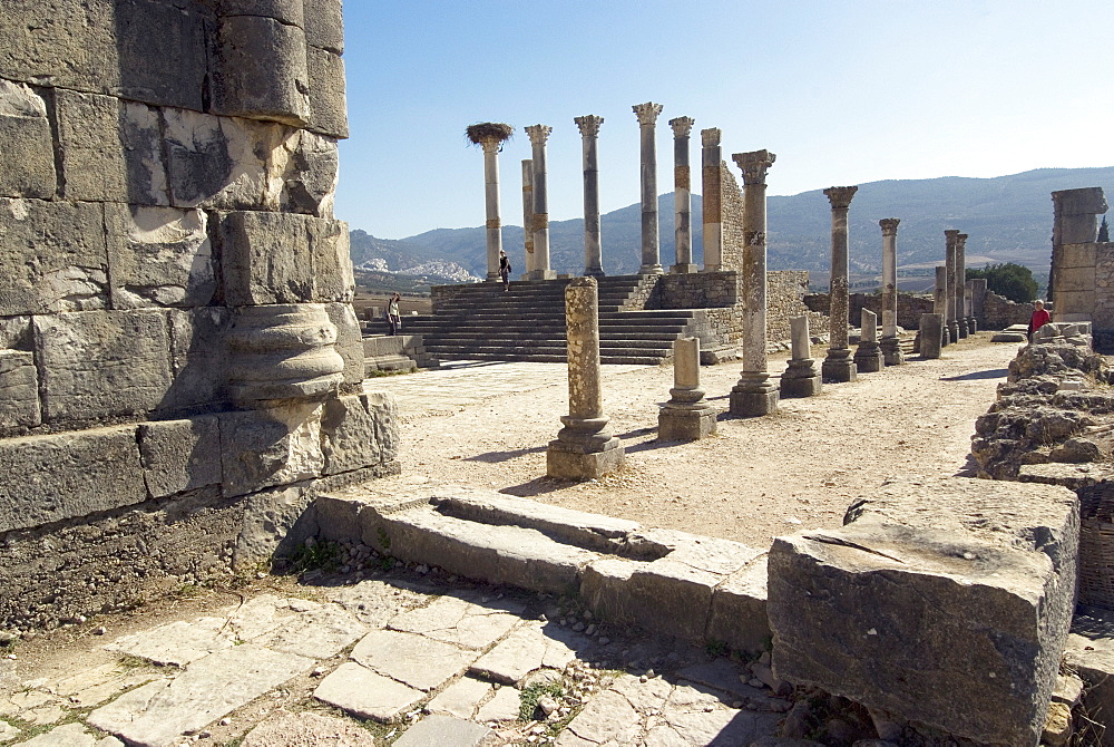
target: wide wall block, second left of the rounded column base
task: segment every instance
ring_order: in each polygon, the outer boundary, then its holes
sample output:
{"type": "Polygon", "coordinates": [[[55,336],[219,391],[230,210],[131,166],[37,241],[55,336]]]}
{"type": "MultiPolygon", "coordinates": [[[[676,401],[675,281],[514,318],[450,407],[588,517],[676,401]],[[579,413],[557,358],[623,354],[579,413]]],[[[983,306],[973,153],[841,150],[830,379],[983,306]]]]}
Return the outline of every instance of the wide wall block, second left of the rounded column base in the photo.
{"type": "Polygon", "coordinates": [[[48,423],[138,415],[170,387],[170,339],[158,311],[88,311],[35,318],[48,423]]]}

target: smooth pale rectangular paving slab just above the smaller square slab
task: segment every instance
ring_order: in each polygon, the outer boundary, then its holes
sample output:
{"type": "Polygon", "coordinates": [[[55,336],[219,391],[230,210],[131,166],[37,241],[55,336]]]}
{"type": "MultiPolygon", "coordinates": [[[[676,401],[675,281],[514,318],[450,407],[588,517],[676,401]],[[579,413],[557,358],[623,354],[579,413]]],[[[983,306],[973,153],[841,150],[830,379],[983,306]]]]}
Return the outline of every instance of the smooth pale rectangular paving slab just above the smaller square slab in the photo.
{"type": "Polygon", "coordinates": [[[356,643],[352,659],[428,692],[463,672],[476,653],[423,636],[373,630],[356,643]]]}

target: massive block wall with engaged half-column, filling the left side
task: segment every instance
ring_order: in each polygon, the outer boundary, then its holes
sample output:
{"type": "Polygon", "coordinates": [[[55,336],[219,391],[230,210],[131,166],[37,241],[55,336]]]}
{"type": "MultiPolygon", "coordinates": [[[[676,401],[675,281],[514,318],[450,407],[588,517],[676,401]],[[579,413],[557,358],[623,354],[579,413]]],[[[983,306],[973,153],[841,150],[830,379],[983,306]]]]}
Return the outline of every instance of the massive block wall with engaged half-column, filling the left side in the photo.
{"type": "Polygon", "coordinates": [[[0,627],[266,557],[397,468],[364,394],[340,0],[13,0],[0,25],[0,627]]]}

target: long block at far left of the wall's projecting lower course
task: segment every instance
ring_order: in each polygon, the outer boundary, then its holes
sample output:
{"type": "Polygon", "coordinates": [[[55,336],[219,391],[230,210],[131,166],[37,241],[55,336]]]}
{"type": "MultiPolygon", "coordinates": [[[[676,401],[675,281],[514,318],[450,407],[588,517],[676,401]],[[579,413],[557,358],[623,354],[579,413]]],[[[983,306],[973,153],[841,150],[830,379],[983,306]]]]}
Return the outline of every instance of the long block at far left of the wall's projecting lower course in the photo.
{"type": "Polygon", "coordinates": [[[147,499],[136,427],[0,439],[0,533],[147,499]]]}

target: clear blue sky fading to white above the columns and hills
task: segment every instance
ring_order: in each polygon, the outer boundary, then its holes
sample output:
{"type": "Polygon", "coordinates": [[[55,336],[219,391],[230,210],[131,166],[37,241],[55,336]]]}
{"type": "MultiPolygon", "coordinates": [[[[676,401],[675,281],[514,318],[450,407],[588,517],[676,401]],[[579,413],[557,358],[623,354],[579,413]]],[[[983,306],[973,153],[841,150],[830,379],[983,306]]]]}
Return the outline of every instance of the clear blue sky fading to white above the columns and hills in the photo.
{"type": "MultiPolygon", "coordinates": [[[[338,217],[383,239],[482,225],[477,122],[514,125],[502,221],[521,224],[522,128],[546,124],[551,220],[582,214],[580,135],[605,118],[604,212],[638,202],[638,124],[768,148],[770,194],[1114,163],[1112,0],[345,0],[350,139],[338,217]]],[[[698,175],[695,174],[698,191],[698,175]]],[[[737,176],[737,175],[736,175],[737,176]]]]}

